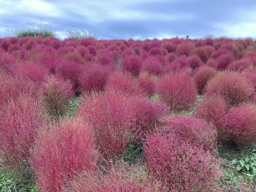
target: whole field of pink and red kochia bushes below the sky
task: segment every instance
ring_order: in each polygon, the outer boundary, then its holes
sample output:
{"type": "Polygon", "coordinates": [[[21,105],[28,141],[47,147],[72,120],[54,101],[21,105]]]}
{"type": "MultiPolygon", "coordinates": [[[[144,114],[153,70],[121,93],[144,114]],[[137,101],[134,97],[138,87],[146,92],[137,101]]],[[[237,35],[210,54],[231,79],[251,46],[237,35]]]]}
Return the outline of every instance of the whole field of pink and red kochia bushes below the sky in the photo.
{"type": "Polygon", "coordinates": [[[256,41],[0,39],[0,191],[256,191],[256,41]]]}

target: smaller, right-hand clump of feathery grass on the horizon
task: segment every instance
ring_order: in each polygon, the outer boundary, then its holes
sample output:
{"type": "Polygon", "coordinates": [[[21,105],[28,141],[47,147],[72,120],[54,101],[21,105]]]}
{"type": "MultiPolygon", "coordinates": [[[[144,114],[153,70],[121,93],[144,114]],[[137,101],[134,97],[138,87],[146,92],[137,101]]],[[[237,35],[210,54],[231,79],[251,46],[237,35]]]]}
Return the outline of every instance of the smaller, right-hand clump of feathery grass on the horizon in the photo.
{"type": "Polygon", "coordinates": [[[96,31],[86,31],[84,29],[76,30],[76,29],[68,29],[68,37],[73,37],[76,40],[85,39],[85,38],[92,38],[98,39],[100,34],[96,31]]]}

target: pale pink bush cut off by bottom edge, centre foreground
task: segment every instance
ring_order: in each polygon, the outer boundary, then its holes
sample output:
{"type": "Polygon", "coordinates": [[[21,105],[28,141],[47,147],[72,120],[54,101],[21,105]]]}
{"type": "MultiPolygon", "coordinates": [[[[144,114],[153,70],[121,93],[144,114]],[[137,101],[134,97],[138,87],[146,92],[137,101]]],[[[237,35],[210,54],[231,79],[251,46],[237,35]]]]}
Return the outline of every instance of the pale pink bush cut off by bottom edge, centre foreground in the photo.
{"type": "Polygon", "coordinates": [[[106,173],[99,169],[87,171],[80,174],[65,192],[167,192],[167,188],[161,182],[147,173],[146,169],[129,166],[124,162],[111,165],[108,170],[101,167],[106,173]]]}

